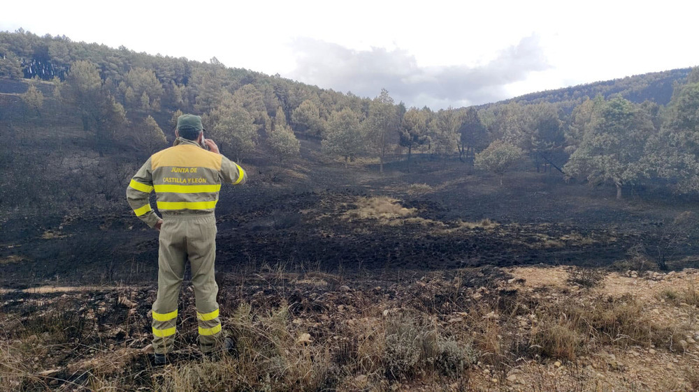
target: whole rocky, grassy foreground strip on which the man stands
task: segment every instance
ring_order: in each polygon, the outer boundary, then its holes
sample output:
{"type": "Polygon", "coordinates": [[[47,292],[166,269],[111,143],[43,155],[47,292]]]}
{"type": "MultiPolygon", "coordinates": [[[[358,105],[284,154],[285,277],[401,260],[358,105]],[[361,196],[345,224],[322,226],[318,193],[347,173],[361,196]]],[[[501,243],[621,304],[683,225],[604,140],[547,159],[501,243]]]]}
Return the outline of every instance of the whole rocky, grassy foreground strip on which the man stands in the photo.
{"type": "Polygon", "coordinates": [[[221,275],[219,283],[236,356],[201,359],[185,285],[178,359],[161,368],[149,360],[152,286],[5,291],[1,384],[27,391],[699,387],[694,269],[519,266],[400,276],[261,269],[221,275]]]}

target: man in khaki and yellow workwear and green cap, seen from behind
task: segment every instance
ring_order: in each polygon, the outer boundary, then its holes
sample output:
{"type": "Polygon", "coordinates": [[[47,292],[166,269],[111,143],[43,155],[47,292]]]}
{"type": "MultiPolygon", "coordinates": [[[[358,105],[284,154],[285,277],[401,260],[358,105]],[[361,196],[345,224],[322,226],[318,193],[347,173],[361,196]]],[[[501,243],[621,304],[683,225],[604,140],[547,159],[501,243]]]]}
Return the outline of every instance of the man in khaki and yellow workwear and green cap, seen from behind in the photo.
{"type": "Polygon", "coordinates": [[[220,344],[214,209],[221,183],[239,185],[247,181],[242,167],[222,156],[212,140],[204,139],[200,116],[179,116],[175,137],[175,144],[154,153],[127,188],[127,199],[136,216],[160,231],[158,294],[152,309],[157,364],[166,363],[166,354],[173,350],[178,296],[187,259],[192,269],[199,347],[204,354],[212,354],[220,344]],[[150,206],[152,190],[162,218],[150,206]]]}

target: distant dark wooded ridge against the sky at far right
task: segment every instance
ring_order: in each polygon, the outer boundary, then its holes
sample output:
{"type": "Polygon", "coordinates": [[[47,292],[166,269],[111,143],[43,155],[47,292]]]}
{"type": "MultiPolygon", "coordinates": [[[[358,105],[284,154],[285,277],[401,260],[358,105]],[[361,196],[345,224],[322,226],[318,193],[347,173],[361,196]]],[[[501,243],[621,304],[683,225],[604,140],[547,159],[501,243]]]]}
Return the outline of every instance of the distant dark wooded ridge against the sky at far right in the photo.
{"type": "Polygon", "coordinates": [[[679,68],[663,72],[644,73],[621,79],[529,93],[524,96],[503,100],[500,103],[562,103],[565,101],[577,101],[584,96],[594,98],[598,94],[602,94],[607,98],[618,93],[635,103],[650,100],[658,103],[658,105],[667,105],[670,102],[670,98],[672,98],[672,87],[675,82],[684,82],[690,71],[691,68],[679,68]]]}

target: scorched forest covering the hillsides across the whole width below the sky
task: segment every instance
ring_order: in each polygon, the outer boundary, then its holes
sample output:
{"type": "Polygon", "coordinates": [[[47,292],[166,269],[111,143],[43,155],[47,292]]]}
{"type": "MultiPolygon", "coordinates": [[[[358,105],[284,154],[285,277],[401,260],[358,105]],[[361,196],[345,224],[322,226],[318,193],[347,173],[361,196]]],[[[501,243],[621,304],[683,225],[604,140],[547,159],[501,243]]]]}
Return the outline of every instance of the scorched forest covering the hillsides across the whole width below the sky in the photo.
{"type": "Polygon", "coordinates": [[[215,58],[152,56],[20,29],[0,33],[0,77],[6,141],[0,162],[13,168],[0,174],[4,210],[69,206],[87,189],[121,202],[133,170],[127,161],[164,148],[182,113],[203,116],[206,136],[243,163],[287,165],[299,159],[299,140],[311,140],[328,162],[376,163],[378,172],[400,160],[410,172],[419,154],[434,162],[458,159],[500,181],[512,167],[557,170],[567,179],[613,186],[620,199],[647,183],[679,194],[699,190],[696,69],[432,110],[396,103],[380,86],[374,98],[359,97],[227,68],[215,58]],[[66,153],[62,137],[44,139],[55,148],[41,156],[17,149],[29,130],[76,124],[86,143],[80,156],[68,156],[75,151],[66,153]],[[57,160],[78,166],[60,173],[46,168],[57,160]],[[81,185],[58,190],[50,186],[55,181],[81,185]]]}

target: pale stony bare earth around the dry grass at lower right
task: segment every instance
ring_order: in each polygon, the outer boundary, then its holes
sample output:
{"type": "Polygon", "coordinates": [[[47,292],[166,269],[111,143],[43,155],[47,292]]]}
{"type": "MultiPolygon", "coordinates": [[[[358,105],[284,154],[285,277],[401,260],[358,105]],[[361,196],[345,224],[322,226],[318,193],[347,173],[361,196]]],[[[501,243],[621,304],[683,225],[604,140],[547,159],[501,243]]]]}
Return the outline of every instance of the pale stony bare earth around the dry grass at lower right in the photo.
{"type": "MultiPolygon", "coordinates": [[[[521,267],[506,271],[512,274],[514,281],[508,280],[505,287],[516,287],[527,293],[524,295],[540,301],[577,301],[582,306],[600,297],[607,301],[635,301],[642,308],[643,319],[630,321],[649,322],[658,329],[669,329],[671,338],[658,342],[634,341],[619,333],[609,336],[612,342],[606,345],[586,342],[590,349],[575,354],[575,358],[521,359],[506,373],[501,373],[501,377],[493,377],[493,365],[476,365],[478,370],[471,376],[477,385],[475,389],[693,391],[699,388],[699,312],[694,302],[699,271],[696,269],[679,273],[610,273],[590,289],[579,282],[571,282],[568,267],[521,267]]],[[[580,278],[576,273],[574,276],[580,278]]],[[[621,323],[624,315],[617,317],[616,321],[621,323]]],[[[519,321],[523,329],[535,328],[535,319],[520,317],[519,321]]]]}

